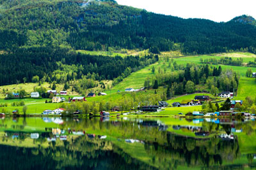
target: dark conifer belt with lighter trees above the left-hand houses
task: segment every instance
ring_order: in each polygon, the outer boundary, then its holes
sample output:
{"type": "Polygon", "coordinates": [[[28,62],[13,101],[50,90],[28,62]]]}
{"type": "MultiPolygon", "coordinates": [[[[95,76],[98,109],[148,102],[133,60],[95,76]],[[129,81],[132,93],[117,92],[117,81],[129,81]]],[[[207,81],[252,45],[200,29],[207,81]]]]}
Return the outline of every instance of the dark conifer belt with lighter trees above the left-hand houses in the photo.
{"type": "Polygon", "coordinates": [[[0,85],[31,81],[65,83],[81,78],[113,80],[118,76],[128,76],[157,60],[157,55],[107,57],[51,46],[20,48],[15,53],[0,55],[0,85]]]}

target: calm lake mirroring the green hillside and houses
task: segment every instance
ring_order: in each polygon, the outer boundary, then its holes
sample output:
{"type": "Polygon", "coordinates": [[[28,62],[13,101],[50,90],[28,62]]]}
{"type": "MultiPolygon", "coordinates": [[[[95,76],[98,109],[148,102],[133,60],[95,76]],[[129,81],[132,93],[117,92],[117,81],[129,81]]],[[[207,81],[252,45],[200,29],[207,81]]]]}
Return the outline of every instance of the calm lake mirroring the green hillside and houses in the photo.
{"type": "Polygon", "coordinates": [[[250,169],[254,119],[0,119],[0,169],[250,169]]]}

